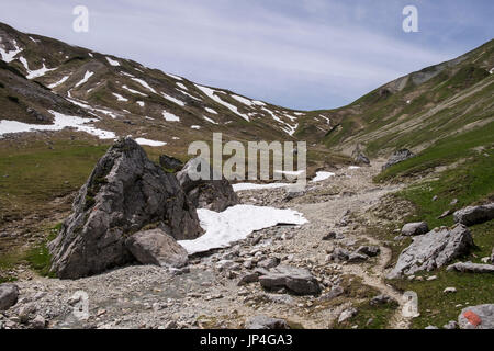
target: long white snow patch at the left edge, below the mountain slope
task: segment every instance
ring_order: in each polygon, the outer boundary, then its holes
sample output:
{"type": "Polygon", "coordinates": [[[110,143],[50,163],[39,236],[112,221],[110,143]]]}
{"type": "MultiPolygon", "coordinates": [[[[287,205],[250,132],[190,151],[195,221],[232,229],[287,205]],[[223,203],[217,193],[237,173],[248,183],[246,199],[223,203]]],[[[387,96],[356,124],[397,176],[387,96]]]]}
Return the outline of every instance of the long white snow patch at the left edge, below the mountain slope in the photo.
{"type": "Polygon", "coordinates": [[[86,132],[99,137],[100,139],[114,139],[115,133],[109,131],[98,129],[90,125],[91,122],[97,122],[96,118],[82,118],[78,116],[69,116],[59,112],[48,111],[55,116],[54,124],[27,124],[16,121],[0,121],[0,137],[8,133],[22,133],[33,131],[61,131],[66,127],[72,127],[80,132],[86,132]]]}

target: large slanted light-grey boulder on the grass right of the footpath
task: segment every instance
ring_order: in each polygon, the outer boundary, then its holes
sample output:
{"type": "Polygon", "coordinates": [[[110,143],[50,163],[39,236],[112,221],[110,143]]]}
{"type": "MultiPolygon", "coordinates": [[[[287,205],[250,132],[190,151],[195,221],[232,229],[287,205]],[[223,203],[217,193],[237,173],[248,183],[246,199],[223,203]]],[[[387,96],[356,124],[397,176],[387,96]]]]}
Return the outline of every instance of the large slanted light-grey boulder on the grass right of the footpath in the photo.
{"type": "Polygon", "coordinates": [[[436,228],[425,235],[416,236],[411,246],[402,251],[388,279],[440,268],[467,253],[472,246],[472,235],[463,225],[456,225],[452,228],[436,228]]]}

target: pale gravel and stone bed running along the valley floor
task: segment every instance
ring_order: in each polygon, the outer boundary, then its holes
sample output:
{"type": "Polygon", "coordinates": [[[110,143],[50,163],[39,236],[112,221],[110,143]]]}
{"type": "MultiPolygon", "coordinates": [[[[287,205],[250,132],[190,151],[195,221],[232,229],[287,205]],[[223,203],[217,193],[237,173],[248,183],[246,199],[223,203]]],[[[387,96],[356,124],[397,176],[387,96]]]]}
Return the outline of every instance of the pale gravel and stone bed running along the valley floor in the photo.
{"type": "MultiPolygon", "coordinates": [[[[238,192],[244,204],[296,210],[308,223],[252,233],[233,247],[192,257],[182,269],[131,265],[78,280],[21,280],[19,303],[4,313],[2,322],[18,328],[40,317],[50,328],[242,328],[252,316],[266,315],[292,326],[332,328],[343,312],[362,302],[340,286],[352,281],[401,303],[401,294],[383,281],[390,249],[366,233],[366,220],[371,220],[366,212],[398,189],[372,183],[380,169],[381,162],[341,168],[335,177],[310,182],[295,196],[287,196],[284,189],[238,192]],[[352,263],[335,259],[335,252],[361,246],[379,247],[379,254],[357,257],[352,263]],[[261,287],[252,272],[277,265],[308,270],[322,286],[321,294],[261,287]],[[77,317],[75,309],[85,306],[88,316],[77,317]]],[[[389,327],[407,327],[400,310],[389,327]]]]}

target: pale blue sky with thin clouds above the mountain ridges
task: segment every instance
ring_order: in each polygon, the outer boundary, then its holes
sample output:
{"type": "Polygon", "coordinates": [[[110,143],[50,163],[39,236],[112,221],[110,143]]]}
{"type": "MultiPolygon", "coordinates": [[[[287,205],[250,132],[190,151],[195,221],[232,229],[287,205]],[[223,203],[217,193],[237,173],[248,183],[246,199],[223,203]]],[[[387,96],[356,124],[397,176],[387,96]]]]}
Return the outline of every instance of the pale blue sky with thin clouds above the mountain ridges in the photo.
{"type": "Polygon", "coordinates": [[[0,12],[22,32],[299,110],[462,55],[493,38],[493,18],[492,0],[9,0],[0,12]],[[88,32],[72,29],[76,5],[88,32]],[[403,31],[406,5],[418,32],[403,31]]]}

